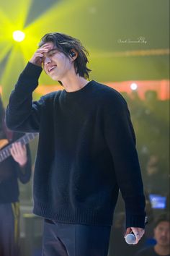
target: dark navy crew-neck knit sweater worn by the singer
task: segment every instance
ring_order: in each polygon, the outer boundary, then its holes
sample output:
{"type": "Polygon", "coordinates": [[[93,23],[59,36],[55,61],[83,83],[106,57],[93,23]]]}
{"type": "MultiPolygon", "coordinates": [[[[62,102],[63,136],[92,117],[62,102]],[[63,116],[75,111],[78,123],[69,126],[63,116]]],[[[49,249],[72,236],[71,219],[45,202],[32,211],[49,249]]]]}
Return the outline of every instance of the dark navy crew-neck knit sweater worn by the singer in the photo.
{"type": "Polygon", "coordinates": [[[126,226],[143,227],[143,183],[124,98],[91,81],[32,102],[41,71],[27,64],[6,110],[10,129],[40,132],[33,212],[63,223],[111,225],[120,189],[126,226]]]}

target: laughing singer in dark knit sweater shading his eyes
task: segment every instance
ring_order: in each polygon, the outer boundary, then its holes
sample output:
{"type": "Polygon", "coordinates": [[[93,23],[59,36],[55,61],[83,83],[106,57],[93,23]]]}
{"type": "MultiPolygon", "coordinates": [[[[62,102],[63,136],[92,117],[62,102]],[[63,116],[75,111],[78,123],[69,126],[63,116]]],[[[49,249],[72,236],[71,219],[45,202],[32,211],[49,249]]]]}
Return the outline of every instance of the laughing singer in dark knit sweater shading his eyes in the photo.
{"type": "Polygon", "coordinates": [[[145,198],[127,103],[94,80],[80,41],[48,33],[9,100],[6,124],[40,132],[34,210],[45,218],[42,255],[105,256],[119,189],[126,233],[144,233],[145,198]],[[42,66],[42,67],[41,67],[42,66]],[[42,68],[64,90],[32,102],[42,68]]]}

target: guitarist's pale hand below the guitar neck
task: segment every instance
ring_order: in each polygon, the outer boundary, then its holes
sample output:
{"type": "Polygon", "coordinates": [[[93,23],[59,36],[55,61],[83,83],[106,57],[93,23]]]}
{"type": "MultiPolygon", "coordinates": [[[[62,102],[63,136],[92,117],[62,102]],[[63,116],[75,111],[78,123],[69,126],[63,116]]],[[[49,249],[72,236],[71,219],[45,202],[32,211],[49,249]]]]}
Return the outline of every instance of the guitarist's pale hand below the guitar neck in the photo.
{"type": "Polygon", "coordinates": [[[14,161],[19,163],[19,166],[24,166],[27,163],[27,149],[21,142],[14,142],[12,148],[10,148],[10,152],[14,161]]]}

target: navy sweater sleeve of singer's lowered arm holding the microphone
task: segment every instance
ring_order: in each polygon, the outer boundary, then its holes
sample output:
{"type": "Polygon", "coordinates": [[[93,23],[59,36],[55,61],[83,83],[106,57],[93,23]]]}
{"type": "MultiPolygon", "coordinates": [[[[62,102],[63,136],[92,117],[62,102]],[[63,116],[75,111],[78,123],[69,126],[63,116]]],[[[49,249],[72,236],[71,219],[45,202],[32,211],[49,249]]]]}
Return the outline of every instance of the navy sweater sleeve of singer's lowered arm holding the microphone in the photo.
{"type": "Polygon", "coordinates": [[[144,228],[146,214],[143,181],[128,106],[121,95],[107,106],[104,134],[112,154],[117,184],[125,201],[126,227],[144,228]]]}

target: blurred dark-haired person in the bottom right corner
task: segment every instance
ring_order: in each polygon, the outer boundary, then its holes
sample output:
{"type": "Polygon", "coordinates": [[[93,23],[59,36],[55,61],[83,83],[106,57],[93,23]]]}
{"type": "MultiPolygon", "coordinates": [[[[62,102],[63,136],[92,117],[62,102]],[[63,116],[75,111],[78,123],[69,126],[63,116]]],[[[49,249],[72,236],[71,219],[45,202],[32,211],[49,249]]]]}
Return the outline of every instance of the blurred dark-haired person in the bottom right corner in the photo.
{"type": "Polygon", "coordinates": [[[170,219],[167,214],[158,217],[153,233],[156,245],[143,249],[136,256],[170,256],[170,219]]]}

